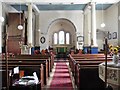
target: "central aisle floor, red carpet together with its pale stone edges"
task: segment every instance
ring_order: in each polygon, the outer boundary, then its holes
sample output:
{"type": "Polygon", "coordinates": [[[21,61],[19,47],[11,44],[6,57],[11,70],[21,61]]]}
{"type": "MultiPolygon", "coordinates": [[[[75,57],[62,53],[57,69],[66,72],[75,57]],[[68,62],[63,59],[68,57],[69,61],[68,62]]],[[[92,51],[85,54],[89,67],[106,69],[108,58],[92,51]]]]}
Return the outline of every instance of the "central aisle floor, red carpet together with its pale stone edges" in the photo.
{"type": "Polygon", "coordinates": [[[74,90],[75,89],[74,79],[70,72],[68,60],[63,60],[63,59],[55,60],[54,67],[52,69],[52,72],[50,73],[50,77],[48,79],[47,85],[43,89],[44,90],[56,90],[56,89],[58,90],[58,88],[59,88],[59,90],[66,90],[66,89],[74,90]],[[56,71],[56,69],[57,69],[57,71],[56,71]],[[55,76],[54,76],[54,74],[55,74],[55,76]],[[63,77],[63,75],[64,75],[64,77],[63,77]],[[56,80],[53,81],[53,77],[54,77],[54,79],[57,78],[56,79],[57,81],[56,80]],[[60,82],[58,79],[61,77],[63,77],[63,79],[61,79],[60,80],[61,82],[60,82]],[[65,82],[65,80],[67,82],[65,82]],[[55,84],[57,84],[57,82],[60,82],[61,85],[55,85],[55,84]],[[67,84],[65,84],[65,83],[67,83],[67,84]],[[51,86],[51,84],[52,84],[52,86],[51,86]],[[66,87],[62,88],[63,86],[66,86],[66,87]],[[67,87],[67,86],[72,86],[73,88],[67,87]],[[51,87],[51,89],[50,89],[50,87],[51,87]]]}

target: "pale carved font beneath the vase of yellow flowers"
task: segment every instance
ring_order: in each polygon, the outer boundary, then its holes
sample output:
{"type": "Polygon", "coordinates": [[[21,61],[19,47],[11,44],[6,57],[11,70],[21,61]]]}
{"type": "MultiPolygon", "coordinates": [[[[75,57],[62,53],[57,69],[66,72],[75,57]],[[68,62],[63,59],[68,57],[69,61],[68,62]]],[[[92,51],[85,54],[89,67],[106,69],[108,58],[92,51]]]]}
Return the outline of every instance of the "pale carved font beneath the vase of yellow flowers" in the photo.
{"type": "MultiPolygon", "coordinates": [[[[105,63],[99,64],[99,77],[105,81],[105,63]]],[[[107,83],[113,90],[120,90],[120,65],[107,63],[107,83]]]]}

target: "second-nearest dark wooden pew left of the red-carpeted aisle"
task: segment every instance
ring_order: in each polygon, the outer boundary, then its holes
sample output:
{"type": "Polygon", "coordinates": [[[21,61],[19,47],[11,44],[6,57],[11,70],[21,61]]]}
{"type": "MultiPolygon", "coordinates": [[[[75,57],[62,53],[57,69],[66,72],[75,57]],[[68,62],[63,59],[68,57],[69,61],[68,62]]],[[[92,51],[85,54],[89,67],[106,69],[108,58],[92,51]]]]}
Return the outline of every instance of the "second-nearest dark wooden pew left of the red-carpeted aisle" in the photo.
{"type": "MultiPolygon", "coordinates": [[[[40,65],[43,64],[44,66],[44,75],[45,75],[45,80],[44,80],[44,84],[47,84],[47,79],[48,79],[48,62],[47,60],[39,60],[39,59],[13,59],[13,58],[9,58],[8,59],[8,67],[15,67],[15,66],[36,66],[36,65],[40,65]]],[[[2,65],[4,65],[5,67],[5,60],[2,60],[2,65]]]]}

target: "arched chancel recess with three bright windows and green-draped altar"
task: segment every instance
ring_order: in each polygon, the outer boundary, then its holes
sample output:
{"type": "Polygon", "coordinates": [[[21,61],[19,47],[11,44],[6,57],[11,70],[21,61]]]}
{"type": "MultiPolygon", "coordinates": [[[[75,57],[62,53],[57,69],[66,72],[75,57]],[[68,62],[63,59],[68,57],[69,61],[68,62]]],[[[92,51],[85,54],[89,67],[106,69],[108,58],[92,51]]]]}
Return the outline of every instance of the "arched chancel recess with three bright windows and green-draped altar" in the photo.
{"type": "Polygon", "coordinates": [[[66,53],[76,46],[76,28],[74,24],[65,18],[59,18],[51,22],[48,28],[49,46],[57,53],[66,53]]]}

